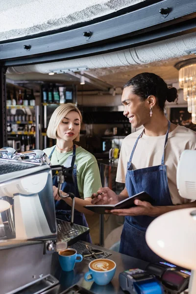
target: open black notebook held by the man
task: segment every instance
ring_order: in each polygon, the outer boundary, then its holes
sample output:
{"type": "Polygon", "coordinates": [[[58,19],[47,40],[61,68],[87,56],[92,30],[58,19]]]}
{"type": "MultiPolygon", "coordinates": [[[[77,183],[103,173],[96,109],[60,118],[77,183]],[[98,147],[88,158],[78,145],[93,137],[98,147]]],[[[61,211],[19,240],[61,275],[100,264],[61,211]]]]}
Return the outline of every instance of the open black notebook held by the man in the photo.
{"type": "Polygon", "coordinates": [[[98,214],[108,214],[105,212],[106,209],[111,210],[111,209],[123,209],[123,208],[130,208],[133,206],[136,206],[134,204],[135,199],[140,199],[142,201],[147,201],[150,203],[153,203],[153,199],[146,193],[146,192],[140,192],[136,195],[133,195],[131,197],[128,197],[117,204],[106,204],[106,205],[86,205],[84,206],[85,208],[94,211],[98,214]]]}

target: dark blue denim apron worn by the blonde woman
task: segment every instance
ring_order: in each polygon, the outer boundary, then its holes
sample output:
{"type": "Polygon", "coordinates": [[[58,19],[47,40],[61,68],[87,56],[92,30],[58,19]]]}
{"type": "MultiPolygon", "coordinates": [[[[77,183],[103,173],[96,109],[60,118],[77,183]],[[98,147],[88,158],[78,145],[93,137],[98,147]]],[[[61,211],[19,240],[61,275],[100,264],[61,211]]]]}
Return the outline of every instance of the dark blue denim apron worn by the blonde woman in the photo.
{"type": "MultiPolygon", "coordinates": [[[[55,146],[56,147],[56,146],[55,146]]],[[[49,154],[49,160],[52,157],[52,153],[55,150],[55,147],[52,149],[49,154]]],[[[73,155],[75,155],[75,145],[73,145],[73,155]]],[[[75,197],[80,198],[78,186],[77,186],[77,167],[74,165],[73,167],[73,176],[74,176],[74,184],[64,182],[62,184],[61,190],[65,193],[73,193],[75,197]]],[[[53,177],[53,185],[58,187],[57,176],[53,177]]],[[[63,221],[71,220],[71,206],[68,205],[64,200],[55,201],[55,210],[56,210],[56,218],[63,221]]],[[[74,220],[75,224],[83,225],[88,227],[88,223],[83,213],[74,209],[74,220]]],[[[81,240],[92,243],[90,234],[86,234],[81,237],[81,240]]]]}

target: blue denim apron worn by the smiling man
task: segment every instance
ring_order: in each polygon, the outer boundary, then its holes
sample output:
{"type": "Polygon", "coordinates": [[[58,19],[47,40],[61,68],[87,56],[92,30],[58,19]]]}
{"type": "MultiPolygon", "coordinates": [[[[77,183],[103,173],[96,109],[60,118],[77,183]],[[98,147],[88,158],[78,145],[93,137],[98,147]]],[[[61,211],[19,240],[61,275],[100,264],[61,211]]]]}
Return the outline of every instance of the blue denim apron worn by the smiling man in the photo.
{"type": "MultiPolygon", "coordinates": [[[[144,134],[144,130],[141,133],[141,135],[137,138],[133,150],[131,152],[129,162],[127,163],[125,187],[129,197],[138,194],[142,191],[145,191],[154,199],[153,205],[173,205],[168,187],[167,166],[164,164],[165,148],[168,142],[170,124],[170,121],[168,121],[168,130],[166,133],[161,165],[133,170],[131,161],[138,140],[144,134]]],[[[145,239],[147,226],[154,219],[155,217],[149,216],[126,216],[121,235],[121,244],[119,252],[130,255],[135,258],[146,260],[148,262],[160,261],[161,258],[148,247],[145,239]]]]}

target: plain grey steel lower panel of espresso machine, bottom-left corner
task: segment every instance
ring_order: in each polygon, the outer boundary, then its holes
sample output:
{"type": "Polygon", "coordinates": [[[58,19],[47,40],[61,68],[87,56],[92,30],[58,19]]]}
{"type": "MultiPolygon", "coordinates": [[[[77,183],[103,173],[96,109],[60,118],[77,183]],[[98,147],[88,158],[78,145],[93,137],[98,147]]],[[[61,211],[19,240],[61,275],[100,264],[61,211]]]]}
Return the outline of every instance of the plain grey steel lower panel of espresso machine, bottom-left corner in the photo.
{"type": "Polygon", "coordinates": [[[25,242],[0,250],[0,294],[16,293],[50,272],[52,254],[43,254],[43,242],[25,242]]]}

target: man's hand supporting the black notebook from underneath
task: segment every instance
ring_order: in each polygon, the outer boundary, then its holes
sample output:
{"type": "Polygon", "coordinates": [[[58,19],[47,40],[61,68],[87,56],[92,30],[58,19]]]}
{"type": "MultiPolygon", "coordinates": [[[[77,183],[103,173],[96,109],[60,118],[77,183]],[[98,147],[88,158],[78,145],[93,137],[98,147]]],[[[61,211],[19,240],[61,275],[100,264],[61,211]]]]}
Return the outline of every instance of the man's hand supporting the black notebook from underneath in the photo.
{"type": "Polygon", "coordinates": [[[139,199],[134,200],[134,204],[136,207],[126,208],[126,209],[112,209],[106,210],[106,212],[110,212],[117,216],[149,216],[155,217],[157,213],[157,209],[155,206],[152,206],[147,201],[141,201],[139,199]]]}

